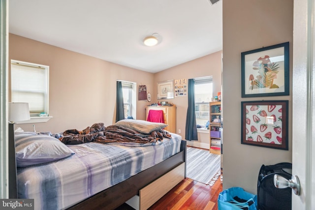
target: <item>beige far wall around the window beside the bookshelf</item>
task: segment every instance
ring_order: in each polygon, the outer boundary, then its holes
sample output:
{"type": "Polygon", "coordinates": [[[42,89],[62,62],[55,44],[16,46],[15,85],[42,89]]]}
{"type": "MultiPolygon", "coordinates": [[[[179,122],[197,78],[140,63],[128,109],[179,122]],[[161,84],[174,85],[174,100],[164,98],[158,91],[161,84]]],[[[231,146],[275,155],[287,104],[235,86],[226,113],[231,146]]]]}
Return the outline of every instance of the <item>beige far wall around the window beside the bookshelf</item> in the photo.
{"type": "MultiPolygon", "coordinates": [[[[154,84],[165,80],[177,79],[192,79],[205,76],[213,76],[213,95],[217,95],[221,91],[221,57],[222,52],[216,52],[202,58],[192,60],[181,65],[160,71],[154,76],[154,84]]],[[[157,87],[155,86],[155,92],[157,87]]],[[[157,95],[153,97],[153,101],[157,102],[157,95]]],[[[175,97],[174,99],[167,99],[168,102],[173,103],[177,107],[176,111],[176,133],[181,130],[180,135],[185,139],[186,115],[188,107],[188,97],[175,97]]],[[[197,146],[208,144],[209,134],[199,133],[198,142],[188,142],[188,144],[195,144],[197,146]],[[200,138],[199,138],[200,137],[200,138]]]]}

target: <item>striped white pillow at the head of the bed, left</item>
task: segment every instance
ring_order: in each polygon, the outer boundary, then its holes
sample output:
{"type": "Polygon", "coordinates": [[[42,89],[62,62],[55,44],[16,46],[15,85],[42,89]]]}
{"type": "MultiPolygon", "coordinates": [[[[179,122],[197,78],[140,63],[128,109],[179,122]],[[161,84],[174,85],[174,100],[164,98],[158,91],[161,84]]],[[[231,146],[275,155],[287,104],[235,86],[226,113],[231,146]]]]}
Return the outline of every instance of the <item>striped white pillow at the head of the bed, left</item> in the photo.
{"type": "Polygon", "coordinates": [[[34,132],[15,133],[15,153],[19,167],[48,163],[74,154],[58,139],[34,132]]]}

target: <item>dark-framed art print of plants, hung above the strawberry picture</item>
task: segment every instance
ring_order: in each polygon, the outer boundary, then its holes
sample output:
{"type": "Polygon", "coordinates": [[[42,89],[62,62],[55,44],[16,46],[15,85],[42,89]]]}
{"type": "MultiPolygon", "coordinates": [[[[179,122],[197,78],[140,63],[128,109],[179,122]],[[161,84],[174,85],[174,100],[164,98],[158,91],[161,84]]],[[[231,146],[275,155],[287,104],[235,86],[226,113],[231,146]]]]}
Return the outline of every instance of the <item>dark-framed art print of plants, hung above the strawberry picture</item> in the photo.
{"type": "Polygon", "coordinates": [[[289,42],[241,53],[242,98],[289,95],[289,42]]]}

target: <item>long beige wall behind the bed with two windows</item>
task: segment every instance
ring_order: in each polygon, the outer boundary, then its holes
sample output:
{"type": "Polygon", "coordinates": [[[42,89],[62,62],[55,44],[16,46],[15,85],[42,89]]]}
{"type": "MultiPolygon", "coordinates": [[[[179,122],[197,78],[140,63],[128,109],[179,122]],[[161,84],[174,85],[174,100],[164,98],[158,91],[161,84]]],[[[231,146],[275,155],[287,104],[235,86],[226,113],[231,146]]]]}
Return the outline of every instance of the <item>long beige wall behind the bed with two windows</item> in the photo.
{"type": "MultiPolygon", "coordinates": [[[[154,91],[154,74],[74,53],[25,37],[9,34],[9,60],[50,66],[49,114],[46,123],[36,123],[36,131],[62,132],[84,129],[95,122],[105,126],[115,122],[116,80],[147,85],[154,91]]],[[[9,84],[10,87],[10,84],[9,84]]],[[[9,90],[10,92],[10,90],[9,90]]],[[[137,119],[145,120],[146,100],[137,100],[137,119]]],[[[32,124],[20,124],[32,130],[32,124]]]]}

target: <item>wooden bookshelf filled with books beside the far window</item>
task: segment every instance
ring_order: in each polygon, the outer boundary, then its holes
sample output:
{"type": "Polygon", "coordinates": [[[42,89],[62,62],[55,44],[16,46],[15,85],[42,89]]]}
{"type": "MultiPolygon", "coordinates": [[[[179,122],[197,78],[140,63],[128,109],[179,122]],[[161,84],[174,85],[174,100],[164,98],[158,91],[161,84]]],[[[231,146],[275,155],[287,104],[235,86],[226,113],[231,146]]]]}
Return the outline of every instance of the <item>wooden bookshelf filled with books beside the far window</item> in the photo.
{"type": "Polygon", "coordinates": [[[221,101],[210,102],[210,150],[221,154],[221,101]]]}

